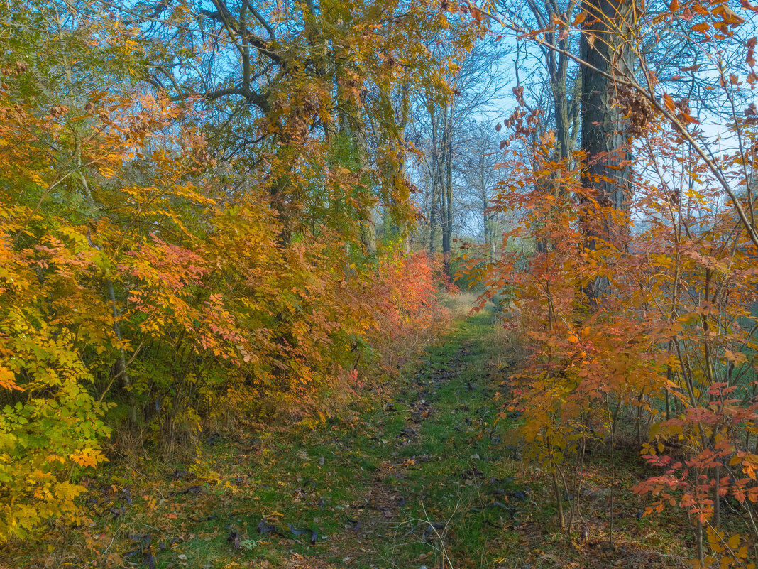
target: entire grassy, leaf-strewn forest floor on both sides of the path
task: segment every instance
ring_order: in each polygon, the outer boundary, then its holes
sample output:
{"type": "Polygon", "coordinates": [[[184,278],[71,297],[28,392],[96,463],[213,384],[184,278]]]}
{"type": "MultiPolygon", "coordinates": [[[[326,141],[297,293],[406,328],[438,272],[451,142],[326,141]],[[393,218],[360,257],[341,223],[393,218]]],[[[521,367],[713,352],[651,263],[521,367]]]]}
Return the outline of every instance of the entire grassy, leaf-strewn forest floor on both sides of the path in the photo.
{"type": "Polygon", "coordinates": [[[211,437],[202,470],[111,472],[89,485],[82,527],[50,527],[33,550],[11,546],[0,567],[683,566],[681,520],[639,519],[643,503],[622,490],[641,468],[623,449],[614,546],[604,448],[581,472],[572,536],[559,532],[548,476],[513,437],[518,413],[497,420],[515,364],[492,319],[456,322],[352,419],[211,437]]]}

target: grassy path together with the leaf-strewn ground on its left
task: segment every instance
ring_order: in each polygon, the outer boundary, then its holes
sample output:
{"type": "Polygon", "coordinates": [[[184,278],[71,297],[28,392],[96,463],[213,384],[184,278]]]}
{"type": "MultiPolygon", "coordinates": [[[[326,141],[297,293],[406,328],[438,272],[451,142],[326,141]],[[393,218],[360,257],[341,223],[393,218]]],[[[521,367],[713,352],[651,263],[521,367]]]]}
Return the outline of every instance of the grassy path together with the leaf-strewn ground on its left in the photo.
{"type": "Polygon", "coordinates": [[[487,313],[456,322],[391,401],[347,420],[209,440],[195,465],[111,471],[89,483],[79,527],[11,546],[0,566],[496,567],[490,542],[507,545],[525,494],[483,375],[496,373],[482,361],[492,329],[487,313]]]}

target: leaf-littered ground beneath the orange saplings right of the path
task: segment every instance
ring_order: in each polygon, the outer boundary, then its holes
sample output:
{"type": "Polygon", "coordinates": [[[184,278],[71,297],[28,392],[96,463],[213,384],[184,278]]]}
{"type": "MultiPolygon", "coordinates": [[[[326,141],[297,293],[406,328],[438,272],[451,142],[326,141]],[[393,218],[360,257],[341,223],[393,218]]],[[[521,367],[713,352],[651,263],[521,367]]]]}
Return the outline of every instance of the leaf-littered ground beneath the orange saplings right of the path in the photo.
{"type": "MultiPolygon", "coordinates": [[[[490,544],[492,566],[691,566],[688,517],[674,509],[646,515],[646,499],[634,492],[637,483],[656,473],[640,456],[636,417],[627,422],[619,417],[613,442],[600,432],[588,433],[581,444],[563,449],[561,464],[546,464],[534,443],[525,440],[530,416],[517,404],[533,354],[522,326],[499,317],[481,351],[495,391],[493,404],[500,410],[498,423],[507,426],[500,464],[520,491],[515,500],[505,501],[515,502],[519,514],[505,523],[502,541],[490,544]]],[[[483,488],[490,490],[486,484],[483,488]]]]}

